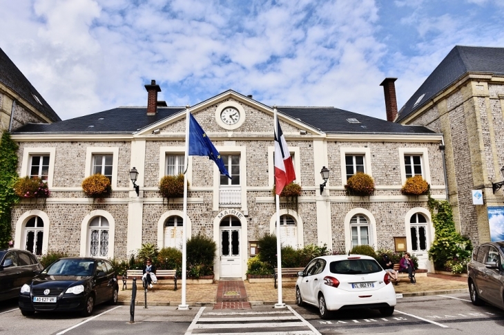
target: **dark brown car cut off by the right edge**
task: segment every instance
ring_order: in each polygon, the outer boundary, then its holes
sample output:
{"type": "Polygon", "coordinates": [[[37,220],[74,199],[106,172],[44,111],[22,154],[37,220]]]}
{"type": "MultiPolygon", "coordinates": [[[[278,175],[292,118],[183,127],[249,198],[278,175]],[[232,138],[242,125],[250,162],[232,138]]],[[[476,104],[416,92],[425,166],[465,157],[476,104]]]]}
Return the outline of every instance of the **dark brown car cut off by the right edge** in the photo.
{"type": "Polygon", "coordinates": [[[467,264],[467,284],[474,305],[486,302],[504,309],[504,241],[474,248],[467,264]]]}

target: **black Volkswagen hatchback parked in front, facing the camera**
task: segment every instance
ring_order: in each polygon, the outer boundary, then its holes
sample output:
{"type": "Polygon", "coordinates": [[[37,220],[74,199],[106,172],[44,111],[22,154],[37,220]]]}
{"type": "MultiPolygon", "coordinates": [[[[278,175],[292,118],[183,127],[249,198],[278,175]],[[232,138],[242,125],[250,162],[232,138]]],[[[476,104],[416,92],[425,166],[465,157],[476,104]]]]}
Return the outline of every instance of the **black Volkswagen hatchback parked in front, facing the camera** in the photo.
{"type": "Polygon", "coordinates": [[[60,258],[21,287],[19,309],[24,316],[48,311],[80,311],[89,316],[95,305],[115,305],[118,294],[117,275],[108,260],[60,258]]]}

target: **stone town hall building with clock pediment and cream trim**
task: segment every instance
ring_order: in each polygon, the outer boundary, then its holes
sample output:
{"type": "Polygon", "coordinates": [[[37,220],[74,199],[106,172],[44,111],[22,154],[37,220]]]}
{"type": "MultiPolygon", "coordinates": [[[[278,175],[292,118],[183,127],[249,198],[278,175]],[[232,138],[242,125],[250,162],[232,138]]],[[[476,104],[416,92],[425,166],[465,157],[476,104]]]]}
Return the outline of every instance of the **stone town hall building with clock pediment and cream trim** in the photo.
{"type": "MultiPolygon", "coordinates": [[[[38,175],[51,191],[45,203],[23,200],[14,208],[14,247],[25,248],[34,229],[41,252],[126,258],[146,242],[180,247],[183,199],[166,204],[158,184],[164,175],[183,171],[185,108],[157,102],[154,81],[145,87],[147,107],[26,124],[12,133],[19,143],[19,175],[38,175]],[[139,171],[138,196],[130,181],[133,166],[139,171]],[[96,172],[112,183],[110,198],[102,202],[81,189],[82,180],[96,172]]],[[[203,233],[217,242],[215,278],[245,278],[253,242],[275,231],[273,107],[227,90],[190,112],[232,179],[220,178],[208,157],[189,158],[188,236],[203,233]],[[226,118],[231,112],[233,119],[226,118]]],[[[408,197],[400,189],[408,176],[420,174],[434,198],[446,198],[442,135],[333,107],[279,106],[278,118],[302,186],[296,208],[280,207],[284,244],[394,249],[394,238],[402,237],[420,267],[430,268],[434,229],[427,196],[408,197]],[[321,193],[323,166],[330,176],[321,193]],[[345,195],[347,178],[356,171],[374,178],[373,195],[345,195]]]]}

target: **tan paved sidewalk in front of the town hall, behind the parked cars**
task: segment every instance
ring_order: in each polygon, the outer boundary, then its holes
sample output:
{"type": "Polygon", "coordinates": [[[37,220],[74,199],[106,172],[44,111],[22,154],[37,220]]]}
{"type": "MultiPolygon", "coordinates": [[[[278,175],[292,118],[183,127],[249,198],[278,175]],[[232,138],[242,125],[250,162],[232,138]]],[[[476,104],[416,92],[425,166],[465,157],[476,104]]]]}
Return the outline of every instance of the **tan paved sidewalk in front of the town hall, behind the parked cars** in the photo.
{"type": "MultiPolygon", "coordinates": [[[[235,281],[235,280],[232,280],[235,281]]],[[[217,288],[219,283],[213,284],[188,284],[186,285],[186,303],[190,306],[214,306],[217,303],[217,288]]],[[[273,283],[250,284],[247,280],[243,281],[244,291],[235,286],[233,289],[220,291],[220,296],[225,291],[240,291],[240,301],[249,302],[250,305],[274,305],[278,303],[278,289],[273,287],[273,283]],[[246,294],[246,299],[243,295],[246,294]]],[[[295,283],[284,283],[282,285],[282,303],[293,305],[295,303],[295,283]]],[[[120,286],[122,287],[122,286],[120,286]]],[[[173,290],[173,285],[155,285],[154,289],[147,292],[147,305],[177,306],[182,302],[182,283],[179,282],[179,289],[173,290]]],[[[394,285],[396,293],[407,296],[427,296],[433,294],[449,294],[467,292],[467,278],[458,276],[445,276],[438,274],[427,274],[427,277],[416,278],[416,284],[407,283],[404,278],[399,285],[394,285]]],[[[144,305],[144,290],[140,285],[137,289],[137,305],[144,305]]],[[[222,302],[222,301],[221,301],[222,302]]],[[[119,289],[119,304],[130,305],[131,303],[131,285],[128,283],[128,289],[119,289]]],[[[246,308],[246,304],[240,308],[246,308]]]]}

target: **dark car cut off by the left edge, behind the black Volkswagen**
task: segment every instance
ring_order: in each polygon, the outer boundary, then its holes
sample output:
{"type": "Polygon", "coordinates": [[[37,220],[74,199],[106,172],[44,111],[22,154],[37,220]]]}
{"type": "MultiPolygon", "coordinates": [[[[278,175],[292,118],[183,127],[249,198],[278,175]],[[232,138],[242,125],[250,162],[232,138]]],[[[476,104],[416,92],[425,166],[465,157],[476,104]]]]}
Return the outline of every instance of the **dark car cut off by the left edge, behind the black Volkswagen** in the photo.
{"type": "Polygon", "coordinates": [[[0,249],[0,301],[17,298],[21,286],[40,274],[42,269],[30,251],[0,249]]]}

